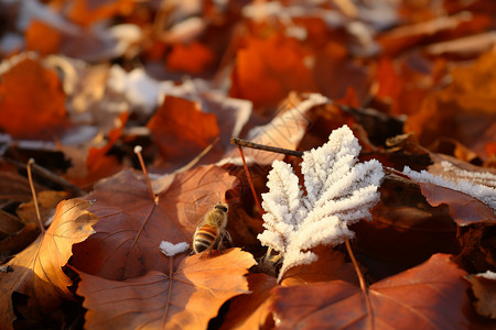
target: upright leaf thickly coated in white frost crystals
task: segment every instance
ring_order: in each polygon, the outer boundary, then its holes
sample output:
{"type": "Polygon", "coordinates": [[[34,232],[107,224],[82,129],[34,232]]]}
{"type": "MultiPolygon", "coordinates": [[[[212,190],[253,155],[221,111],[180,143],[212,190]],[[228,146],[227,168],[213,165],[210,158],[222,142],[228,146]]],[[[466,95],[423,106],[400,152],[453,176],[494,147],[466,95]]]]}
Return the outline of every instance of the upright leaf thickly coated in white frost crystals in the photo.
{"type": "Polygon", "coordinates": [[[376,160],[357,163],[359,152],[358,140],[346,125],[333,131],[323,146],[305,152],[301,164],[305,195],[291,165],[273,162],[269,193],[262,194],[266,230],[258,239],[282,253],[280,278],[288,268],[317,258],[309,249],[339,244],[353,238],[348,224],[371,218],[382,166],[376,160]]]}

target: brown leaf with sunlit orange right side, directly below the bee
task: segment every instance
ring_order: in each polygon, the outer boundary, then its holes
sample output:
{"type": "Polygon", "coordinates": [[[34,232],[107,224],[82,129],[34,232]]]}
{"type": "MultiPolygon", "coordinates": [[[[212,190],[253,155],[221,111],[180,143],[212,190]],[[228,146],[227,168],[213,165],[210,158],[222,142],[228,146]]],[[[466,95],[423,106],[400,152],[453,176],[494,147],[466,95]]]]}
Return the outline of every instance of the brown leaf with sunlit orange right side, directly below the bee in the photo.
{"type": "Polygon", "coordinates": [[[206,329],[227,299],[247,293],[244,275],[254,264],[251,254],[233,249],[215,257],[183,258],[170,274],[152,271],[123,282],[80,274],[77,294],[88,309],[86,327],[206,329]]]}

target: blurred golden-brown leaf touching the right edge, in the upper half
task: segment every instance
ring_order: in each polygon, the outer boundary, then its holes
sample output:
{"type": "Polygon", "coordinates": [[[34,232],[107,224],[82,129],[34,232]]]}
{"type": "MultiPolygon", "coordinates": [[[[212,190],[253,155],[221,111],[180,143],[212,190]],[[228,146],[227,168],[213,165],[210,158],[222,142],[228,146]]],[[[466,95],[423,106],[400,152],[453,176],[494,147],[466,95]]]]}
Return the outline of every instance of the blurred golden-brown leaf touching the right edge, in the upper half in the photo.
{"type": "Polygon", "coordinates": [[[486,160],[485,148],[496,141],[496,51],[481,56],[471,66],[452,70],[453,82],[432,92],[407,120],[406,131],[414,132],[422,145],[441,136],[457,140],[486,160]]]}

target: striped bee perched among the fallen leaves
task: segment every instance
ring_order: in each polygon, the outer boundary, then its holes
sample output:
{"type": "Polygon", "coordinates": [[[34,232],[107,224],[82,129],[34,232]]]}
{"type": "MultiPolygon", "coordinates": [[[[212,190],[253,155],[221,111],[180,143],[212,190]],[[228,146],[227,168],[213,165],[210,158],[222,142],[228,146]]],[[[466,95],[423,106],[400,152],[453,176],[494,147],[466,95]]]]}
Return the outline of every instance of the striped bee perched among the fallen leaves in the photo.
{"type": "Polygon", "coordinates": [[[227,204],[218,202],[214,208],[205,215],[202,222],[196,227],[193,235],[193,252],[209,253],[217,248],[223,249],[223,241],[227,239],[233,245],[227,226],[227,204]]]}

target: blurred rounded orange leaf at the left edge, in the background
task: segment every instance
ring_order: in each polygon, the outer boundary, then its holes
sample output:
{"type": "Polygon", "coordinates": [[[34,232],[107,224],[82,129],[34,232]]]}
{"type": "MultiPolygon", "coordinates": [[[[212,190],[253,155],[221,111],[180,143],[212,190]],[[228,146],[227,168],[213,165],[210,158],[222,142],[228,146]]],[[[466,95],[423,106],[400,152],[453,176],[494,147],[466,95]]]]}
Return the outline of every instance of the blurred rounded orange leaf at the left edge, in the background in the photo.
{"type": "Polygon", "coordinates": [[[2,75],[0,113],[0,129],[14,139],[53,140],[68,127],[57,74],[37,59],[21,59],[2,75]]]}

